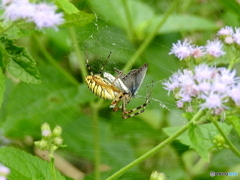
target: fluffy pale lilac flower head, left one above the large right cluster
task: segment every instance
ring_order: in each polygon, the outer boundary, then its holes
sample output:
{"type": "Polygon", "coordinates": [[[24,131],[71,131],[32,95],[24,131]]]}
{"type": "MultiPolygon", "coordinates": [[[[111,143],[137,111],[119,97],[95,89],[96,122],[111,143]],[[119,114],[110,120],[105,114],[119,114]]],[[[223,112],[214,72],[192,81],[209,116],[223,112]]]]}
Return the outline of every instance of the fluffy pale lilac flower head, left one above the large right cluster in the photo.
{"type": "Polygon", "coordinates": [[[180,60],[183,60],[191,55],[192,49],[193,47],[188,40],[185,39],[184,42],[178,40],[176,44],[173,44],[169,54],[174,54],[180,60]]]}

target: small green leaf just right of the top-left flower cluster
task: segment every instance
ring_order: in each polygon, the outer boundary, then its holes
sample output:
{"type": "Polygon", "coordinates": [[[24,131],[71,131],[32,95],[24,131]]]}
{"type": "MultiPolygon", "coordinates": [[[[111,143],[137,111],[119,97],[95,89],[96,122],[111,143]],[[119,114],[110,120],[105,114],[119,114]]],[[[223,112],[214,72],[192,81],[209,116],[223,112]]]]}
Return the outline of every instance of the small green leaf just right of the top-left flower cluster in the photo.
{"type": "Polygon", "coordinates": [[[95,19],[93,14],[88,14],[83,11],[77,13],[66,14],[64,16],[65,23],[62,26],[84,26],[95,19]]]}

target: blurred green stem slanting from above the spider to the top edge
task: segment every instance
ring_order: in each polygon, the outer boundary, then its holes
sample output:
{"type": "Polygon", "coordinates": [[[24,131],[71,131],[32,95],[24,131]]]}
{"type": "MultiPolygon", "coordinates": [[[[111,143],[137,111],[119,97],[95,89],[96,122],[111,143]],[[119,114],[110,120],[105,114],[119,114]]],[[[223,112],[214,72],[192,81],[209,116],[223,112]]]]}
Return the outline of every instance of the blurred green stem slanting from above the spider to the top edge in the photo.
{"type": "Polygon", "coordinates": [[[168,17],[172,14],[172,12],[177,8],[178,3],[181,0],[175,0],[174,3],[171,5],[171,7],[168,9],[168,11],[166,12],[166,14],[164,15],[163,19],[156,25],[156,28],[150,33],[148,34],[148,36],[146,37],[146,39],[143,41],[143,43],[141,44],[141,46],[138,48],[138,50],[135,52],[135,54],[131,57],[131,59],[128,61],[128,63],[126,64],[126,66],[123,68],[126,71],[129,71],[130,68],[132,67],[132,65],[135,63],[135,61],[137,60],[137,58],[145,51],[145,49],[147,48],[147,46],[150,44],[150,42],[152,41],[152,39],[155,37],[155,35],[157,34],[157,32],[159,31],[159,29],[161,28],[161,26],[166,22],[166,20],[168,19],[168,17]]]}

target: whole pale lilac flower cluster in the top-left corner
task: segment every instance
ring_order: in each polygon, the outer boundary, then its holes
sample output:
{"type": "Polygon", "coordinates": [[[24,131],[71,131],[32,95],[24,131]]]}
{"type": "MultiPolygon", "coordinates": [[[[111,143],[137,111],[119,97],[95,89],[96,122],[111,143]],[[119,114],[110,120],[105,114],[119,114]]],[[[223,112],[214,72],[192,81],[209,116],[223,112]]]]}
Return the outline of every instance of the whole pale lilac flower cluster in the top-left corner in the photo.
{"type": "Polygon", "coordinates": [[[36,24],[37,29],[54,28],[64,22],[63,14],[56,13],[56,6],[46,3],[33,4],[28,0],[3,0],[2,18],[5,21],[25,19],[36,24]]]}

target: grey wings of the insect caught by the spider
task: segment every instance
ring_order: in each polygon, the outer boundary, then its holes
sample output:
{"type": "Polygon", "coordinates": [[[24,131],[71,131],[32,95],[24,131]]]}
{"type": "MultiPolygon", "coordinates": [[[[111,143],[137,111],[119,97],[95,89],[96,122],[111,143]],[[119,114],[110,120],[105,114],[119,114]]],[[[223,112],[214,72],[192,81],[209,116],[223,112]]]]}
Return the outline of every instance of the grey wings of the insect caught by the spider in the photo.
{"type": "Polygon", "coordinates": [[[122,80],[122,82],[129,88],[132,96],[135,96],[137,90],[143,82],[147,69],[148,64],[146,63],[138,69],[131,70],[126,75],[124,75],[124,73],[118,69],[115,69],[115,71],[118,74],[118,77],[122,80]]]}

